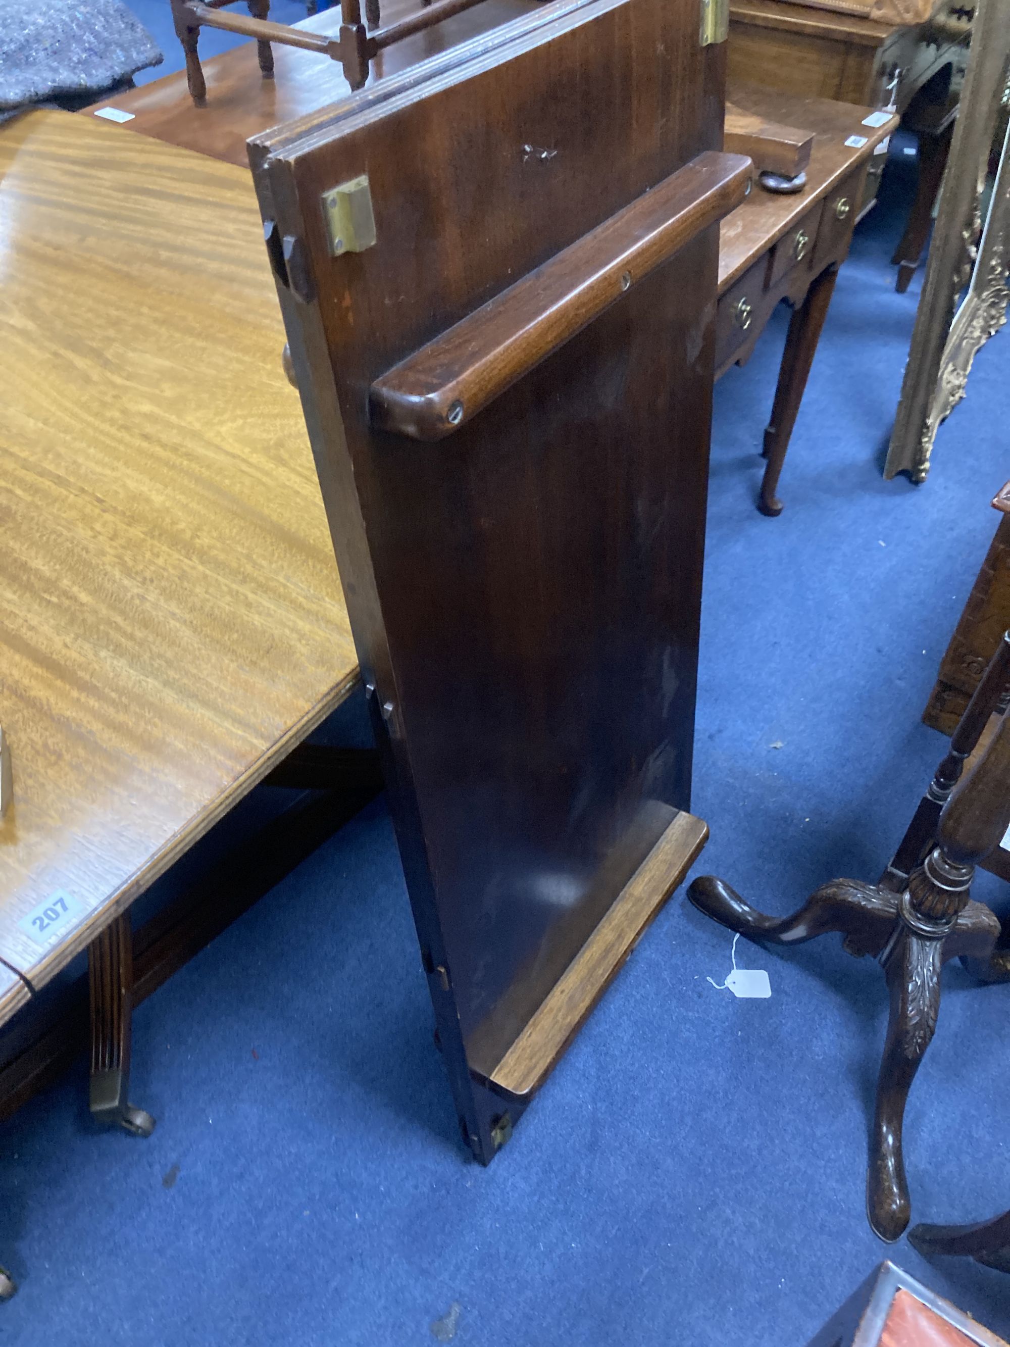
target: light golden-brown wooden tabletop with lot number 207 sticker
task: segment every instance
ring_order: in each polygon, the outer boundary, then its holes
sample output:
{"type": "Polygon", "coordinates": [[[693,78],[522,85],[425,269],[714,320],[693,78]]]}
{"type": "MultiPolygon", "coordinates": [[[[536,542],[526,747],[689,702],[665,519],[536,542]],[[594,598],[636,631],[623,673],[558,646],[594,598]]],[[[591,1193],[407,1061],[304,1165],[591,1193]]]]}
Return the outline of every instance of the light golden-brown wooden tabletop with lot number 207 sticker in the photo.
{"type": "Polygon", "coordinates": [[[248,174],[38,112],[0,131],[0,955],[38,985],[357,660],[248,174]]]}

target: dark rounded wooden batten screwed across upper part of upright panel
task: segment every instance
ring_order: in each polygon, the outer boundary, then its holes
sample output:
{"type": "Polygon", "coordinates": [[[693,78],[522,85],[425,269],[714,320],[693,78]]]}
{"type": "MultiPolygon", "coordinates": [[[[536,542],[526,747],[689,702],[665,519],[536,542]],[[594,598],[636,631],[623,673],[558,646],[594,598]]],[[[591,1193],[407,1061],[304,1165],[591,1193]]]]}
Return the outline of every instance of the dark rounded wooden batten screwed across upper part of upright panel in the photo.
{"type": "Polygon", "coordinates": [[[704,151],[372,384],[373,424],[435,440],[743,201],[751,164],[704,151]]]}

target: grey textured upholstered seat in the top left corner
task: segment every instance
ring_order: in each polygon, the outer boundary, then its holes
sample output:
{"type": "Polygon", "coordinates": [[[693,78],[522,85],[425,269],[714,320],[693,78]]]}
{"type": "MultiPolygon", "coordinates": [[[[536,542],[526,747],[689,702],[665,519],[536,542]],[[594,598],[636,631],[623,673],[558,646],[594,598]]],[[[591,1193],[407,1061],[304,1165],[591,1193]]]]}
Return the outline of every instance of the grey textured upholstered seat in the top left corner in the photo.
{"type": "Polygon", "coordinates": [[[0,0],[0,114],[98,93],[160,61],[123,0],[0,0]]]}

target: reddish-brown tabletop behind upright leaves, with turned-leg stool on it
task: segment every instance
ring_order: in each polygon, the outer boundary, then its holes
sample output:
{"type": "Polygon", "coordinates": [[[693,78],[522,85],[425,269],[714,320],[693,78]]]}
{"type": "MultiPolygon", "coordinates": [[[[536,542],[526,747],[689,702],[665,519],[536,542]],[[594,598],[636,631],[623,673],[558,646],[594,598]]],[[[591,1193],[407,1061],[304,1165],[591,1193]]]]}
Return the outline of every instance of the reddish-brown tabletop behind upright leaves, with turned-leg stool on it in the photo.
{"type": "MultiPolygon", "coordinates": [[[[365,89],[373,89],[399,71],[537,9],[543,5],[536,0],[481,0],[473,9],[380,51],[369,63],[365,89]]],[[[389,24],[416,12],[417,0],[382,3],[382,20],[389,24]]],[[[323,9],[295,27],[337,38],[341,7],[323,9]]],[[[327,104],[343,102],[351,94],[339,62],[295,47],[275,48],[272,79],[263,78],[253,42],[233,47],[202,65],[207,86],[205,108],[194,106],[186,74],[179,71],[119,93],[78,116],[92,117],[100,108],[114,106],[133,114],[133,121],[124,123],[124,131],[154,136],[248,168],[245,141],[250,136],[304,117],[327,104]]]]}

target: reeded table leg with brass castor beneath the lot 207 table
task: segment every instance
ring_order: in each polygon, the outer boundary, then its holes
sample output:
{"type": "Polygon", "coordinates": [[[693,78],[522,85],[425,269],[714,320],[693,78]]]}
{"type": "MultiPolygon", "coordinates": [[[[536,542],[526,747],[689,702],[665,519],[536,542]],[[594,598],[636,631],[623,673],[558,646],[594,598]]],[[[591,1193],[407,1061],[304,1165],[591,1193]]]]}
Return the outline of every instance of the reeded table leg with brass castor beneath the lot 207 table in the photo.
{"type": "Polygon", "coordinates": [[[88,946],[92,998],[92,1117],[149,1137],[155,1119],[129,1103],[129,1041],[133,1016],[133,931],[129,913],[88,946]]]}

